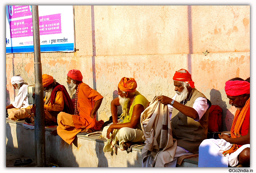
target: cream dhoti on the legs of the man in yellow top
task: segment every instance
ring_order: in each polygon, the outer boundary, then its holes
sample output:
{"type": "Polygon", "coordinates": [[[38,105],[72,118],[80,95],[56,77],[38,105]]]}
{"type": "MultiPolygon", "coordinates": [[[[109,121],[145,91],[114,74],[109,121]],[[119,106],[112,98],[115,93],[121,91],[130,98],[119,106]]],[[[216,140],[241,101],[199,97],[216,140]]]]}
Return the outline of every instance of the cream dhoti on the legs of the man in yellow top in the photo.
{"type": "Polygon", "coordinates": [[[119,147],[124,151],[122,142],[143,142],[143,132],[140,129],[133,129],[129,127],[123,127],[121,129],[114,129],[113,134],[110,135],[110,140],[107,138],[107,130],[109,126],[105,126],[102,131],[102,136],[107,139],[104,145],[103,152],[113,151],[113,147],[119,142],[119,147]]]}

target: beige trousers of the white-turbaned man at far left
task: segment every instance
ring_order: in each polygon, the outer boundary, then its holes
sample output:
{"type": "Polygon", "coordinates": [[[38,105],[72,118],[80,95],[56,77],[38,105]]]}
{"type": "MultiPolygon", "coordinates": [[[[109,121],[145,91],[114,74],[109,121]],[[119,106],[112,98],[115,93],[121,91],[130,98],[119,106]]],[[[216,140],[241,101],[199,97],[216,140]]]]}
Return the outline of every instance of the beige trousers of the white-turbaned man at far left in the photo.
{"type": "Polygon", "coordinates": [[[32,107],[33,106],[31,105],[21,109],[17,109],[17,108],[7,109],[7,112],[9,115],[8,118],[10,118],[11,120],[23,119],[27,117],[30,118],[31,115],[28,112],[30,112],[32,107]]]}

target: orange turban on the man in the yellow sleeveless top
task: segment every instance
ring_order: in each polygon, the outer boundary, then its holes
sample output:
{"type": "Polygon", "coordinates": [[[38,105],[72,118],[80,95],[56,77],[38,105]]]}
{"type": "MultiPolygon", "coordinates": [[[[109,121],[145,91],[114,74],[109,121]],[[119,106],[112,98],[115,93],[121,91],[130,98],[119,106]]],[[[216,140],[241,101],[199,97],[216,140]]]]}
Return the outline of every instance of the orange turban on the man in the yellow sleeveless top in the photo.
{"type": "Polygon", "coordinates": [[[123,77],[118,84],[120,90],[132,93],[136,91],[137,83],[134,78],[123,77]]]}

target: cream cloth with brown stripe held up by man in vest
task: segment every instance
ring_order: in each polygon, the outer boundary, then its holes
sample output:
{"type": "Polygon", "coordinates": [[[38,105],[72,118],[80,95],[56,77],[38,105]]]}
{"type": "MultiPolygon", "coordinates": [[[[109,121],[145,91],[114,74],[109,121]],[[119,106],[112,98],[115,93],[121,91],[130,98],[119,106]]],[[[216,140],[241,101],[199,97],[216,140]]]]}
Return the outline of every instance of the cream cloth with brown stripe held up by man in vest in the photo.
{"type": "Polygon", "coordinates": [[[168,107],[157,96],[141,113],[140,124],[146,144],[142,149],[142,167],[164,167],[173,161],[177,141],[172,139],[168,107]]]}

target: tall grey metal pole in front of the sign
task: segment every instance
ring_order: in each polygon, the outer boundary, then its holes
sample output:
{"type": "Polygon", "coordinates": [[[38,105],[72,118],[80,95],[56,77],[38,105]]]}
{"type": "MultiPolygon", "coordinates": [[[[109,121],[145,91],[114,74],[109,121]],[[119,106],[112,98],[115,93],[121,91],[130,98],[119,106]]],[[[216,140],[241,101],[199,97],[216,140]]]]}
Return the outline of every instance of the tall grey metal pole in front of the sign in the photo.
{"type": "Polygon", "coordinates": [[[44,129],[44,93],[42,83],[42,65],[39,37],[38,5],[32,5],[34,68],[35,68],[35,144],[37,166],[45,167],[45,129],[44,129]]]}

